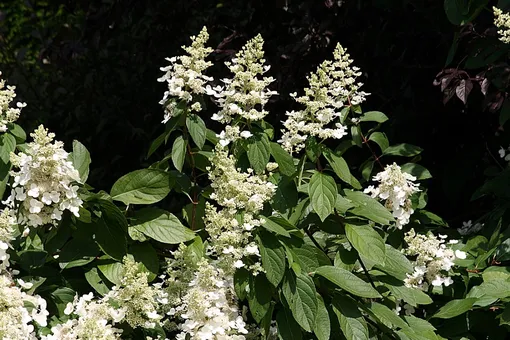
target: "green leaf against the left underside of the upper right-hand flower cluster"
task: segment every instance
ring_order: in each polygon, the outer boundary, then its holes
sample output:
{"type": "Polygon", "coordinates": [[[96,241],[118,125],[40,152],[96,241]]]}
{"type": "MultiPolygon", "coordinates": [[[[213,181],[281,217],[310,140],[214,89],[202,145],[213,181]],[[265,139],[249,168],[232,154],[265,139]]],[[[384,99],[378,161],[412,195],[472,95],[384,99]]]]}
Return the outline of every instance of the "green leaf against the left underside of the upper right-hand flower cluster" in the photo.
{"type": "Polygon", "coordinates": [[[357,204],[349,210],[357,216],[362,216],[382,225],[389,225],[394,221],[391,212],[376,199],[360,191],[344,190],[345,196],[357,204]]]}

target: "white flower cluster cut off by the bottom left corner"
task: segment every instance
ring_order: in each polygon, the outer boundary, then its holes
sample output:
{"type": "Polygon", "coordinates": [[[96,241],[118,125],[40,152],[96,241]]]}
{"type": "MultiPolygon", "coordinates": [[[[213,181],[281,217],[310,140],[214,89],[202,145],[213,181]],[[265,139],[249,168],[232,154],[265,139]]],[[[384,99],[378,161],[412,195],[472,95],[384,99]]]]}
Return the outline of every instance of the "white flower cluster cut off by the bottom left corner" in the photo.
{"type": "Polygon", "coordinates": [[[23,292],[9,273],[0,275],[0,339],[36,339],[34,324],[45,327],[48,314],[46,300],[23,292]]]}

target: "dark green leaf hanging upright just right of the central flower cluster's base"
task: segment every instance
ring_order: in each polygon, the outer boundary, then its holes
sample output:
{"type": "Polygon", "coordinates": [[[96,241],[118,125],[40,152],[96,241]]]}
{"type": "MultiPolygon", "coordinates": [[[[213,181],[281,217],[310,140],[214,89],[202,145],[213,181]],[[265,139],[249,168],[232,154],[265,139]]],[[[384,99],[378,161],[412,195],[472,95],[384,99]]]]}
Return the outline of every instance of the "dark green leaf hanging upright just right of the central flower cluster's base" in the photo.
{"type": "Polygon", "coordinates": [[[267,232],[257,235],[257,241],[267,280],[276,287],[285,274],[285,249],[274,235],[267,232]]]}

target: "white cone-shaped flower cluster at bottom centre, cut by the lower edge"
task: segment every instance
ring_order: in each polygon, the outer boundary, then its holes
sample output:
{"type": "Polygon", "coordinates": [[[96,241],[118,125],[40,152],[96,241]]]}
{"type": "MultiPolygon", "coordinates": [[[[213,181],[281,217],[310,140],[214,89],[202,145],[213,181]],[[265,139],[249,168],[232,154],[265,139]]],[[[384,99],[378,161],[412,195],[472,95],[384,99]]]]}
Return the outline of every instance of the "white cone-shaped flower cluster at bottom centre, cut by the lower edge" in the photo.
{"type": "Polygon", "coordinates": [[[243,334],[248,333],[237,308],[232,276],[226,276],[206,259],[198,263],[182,304],[171,314],[185,319],[177,340],[244,340],[243,334]]]}

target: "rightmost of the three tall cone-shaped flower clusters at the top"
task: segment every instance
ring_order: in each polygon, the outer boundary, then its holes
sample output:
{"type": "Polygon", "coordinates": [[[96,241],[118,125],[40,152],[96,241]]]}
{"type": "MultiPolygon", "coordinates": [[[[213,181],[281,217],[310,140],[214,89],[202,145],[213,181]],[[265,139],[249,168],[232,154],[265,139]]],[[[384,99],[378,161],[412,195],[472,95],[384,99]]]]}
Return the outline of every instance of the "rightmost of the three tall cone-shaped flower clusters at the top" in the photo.
{"type": "Polygon", "coordinates": [[[324,61],[308,77],[310,87],[305,89],[304,96],[296,98],[305,109],[287,112],[283,136],[278,142],[290,153],[299,152],[308,136],[340,139],[347,135],[346,127],[339,121],[341,109],[361,104],[368,95],[359,91],[363,84],[356,78],[361,72],[351,66],[352,60],[340,44],[333,56],[334,61],[324,61]]]}

